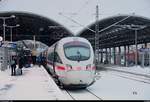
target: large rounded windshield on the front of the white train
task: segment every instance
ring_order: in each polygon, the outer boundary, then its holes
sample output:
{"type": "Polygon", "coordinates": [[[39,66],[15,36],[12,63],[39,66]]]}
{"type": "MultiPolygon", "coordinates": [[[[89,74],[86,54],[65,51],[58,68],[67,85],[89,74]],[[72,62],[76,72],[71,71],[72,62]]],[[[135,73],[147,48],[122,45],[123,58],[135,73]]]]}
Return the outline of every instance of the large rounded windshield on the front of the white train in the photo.
{"type": "Polygon", "coordinates": [[[73,61],[84,61],[90,58],[90,47],[87,44],[66,44],[64,52],[65,56],[73,61]]]}

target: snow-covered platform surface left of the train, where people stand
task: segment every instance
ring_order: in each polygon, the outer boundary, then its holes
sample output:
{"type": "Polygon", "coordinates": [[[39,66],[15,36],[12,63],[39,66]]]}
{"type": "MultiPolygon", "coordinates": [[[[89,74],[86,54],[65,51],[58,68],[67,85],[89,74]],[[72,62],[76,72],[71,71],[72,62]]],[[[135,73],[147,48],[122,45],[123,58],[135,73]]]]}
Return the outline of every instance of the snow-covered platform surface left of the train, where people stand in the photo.
{"type": "Polygon", "coordinates": [[[0,71],[0,100],[67,100],[43,67],[23,68],[23,75],[0,71]]]}

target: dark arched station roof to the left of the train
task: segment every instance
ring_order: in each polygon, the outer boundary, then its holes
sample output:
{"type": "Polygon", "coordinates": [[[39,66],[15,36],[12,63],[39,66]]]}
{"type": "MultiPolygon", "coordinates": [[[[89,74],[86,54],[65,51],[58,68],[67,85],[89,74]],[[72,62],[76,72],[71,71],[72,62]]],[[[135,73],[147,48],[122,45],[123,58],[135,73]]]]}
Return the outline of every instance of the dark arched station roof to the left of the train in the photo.
{"type": "MultiPolygon", "coordinates": [[[[67,36],[73,36],[73,34],[58,24],[56,21],[49,18],[36,15],[33,13],[22,12],[4,12],[0,13],[0,17],[10,17],[15,15],[15,18],[9,18],[6,20],[7,26],[15,26],[19,24],[19,27],[13,28],[13,41],[19,40],[33,40],[35,39],[46,45],[50,46],[59,39],[67,36]]],[[[0,19],[0,36],[3,37],[3,20],[0,19]]],[[[6,27],[5,40],[10,41],[10,28],[6,27]]]]}

